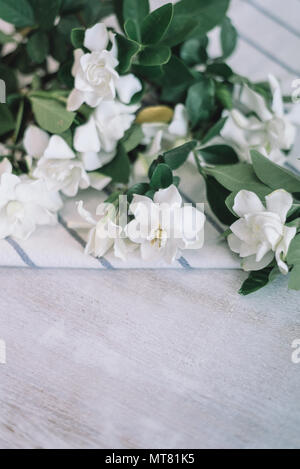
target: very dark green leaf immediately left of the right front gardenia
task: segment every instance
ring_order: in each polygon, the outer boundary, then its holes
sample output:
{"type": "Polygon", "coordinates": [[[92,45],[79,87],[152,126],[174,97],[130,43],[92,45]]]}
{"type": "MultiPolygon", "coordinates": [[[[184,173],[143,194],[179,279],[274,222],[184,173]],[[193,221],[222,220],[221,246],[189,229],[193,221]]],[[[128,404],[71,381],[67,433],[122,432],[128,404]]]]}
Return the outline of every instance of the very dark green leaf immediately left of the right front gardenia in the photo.
{"type": "Polygon", "coordinates": [[[211,176],[208,176],[205,182],[207,200],[210,208],[223,225],[231,226],[237,220],[237,217],[228,210],[225,204],[225,200],[229,196],[229,191],[211,176]]]}

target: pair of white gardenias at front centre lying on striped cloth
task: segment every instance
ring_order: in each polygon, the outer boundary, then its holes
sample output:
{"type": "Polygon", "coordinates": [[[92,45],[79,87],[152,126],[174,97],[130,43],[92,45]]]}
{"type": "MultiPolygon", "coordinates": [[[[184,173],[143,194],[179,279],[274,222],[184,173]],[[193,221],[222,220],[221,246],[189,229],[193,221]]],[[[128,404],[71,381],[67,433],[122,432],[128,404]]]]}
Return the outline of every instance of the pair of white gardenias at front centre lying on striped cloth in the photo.
{"type": "MultiPolygon", "coordinates": [[[[156,192],[154,200],[135,195],[129,207],[129,223],[118,224],[122,216],[113,205],[97,208],[97,221],[78,204],[82,218],[91,226],[86,253],[104,256],[111,248],[125,260],[128,253],[140,249],[145,261],[164,259],[168,263],[185,249],[201,249],[204,244],[205,215],[192,206],[183,206],[178,189],[172,185],[156,192]]],[[[127,220],[127,210],[126,217],[127,220]]]]}

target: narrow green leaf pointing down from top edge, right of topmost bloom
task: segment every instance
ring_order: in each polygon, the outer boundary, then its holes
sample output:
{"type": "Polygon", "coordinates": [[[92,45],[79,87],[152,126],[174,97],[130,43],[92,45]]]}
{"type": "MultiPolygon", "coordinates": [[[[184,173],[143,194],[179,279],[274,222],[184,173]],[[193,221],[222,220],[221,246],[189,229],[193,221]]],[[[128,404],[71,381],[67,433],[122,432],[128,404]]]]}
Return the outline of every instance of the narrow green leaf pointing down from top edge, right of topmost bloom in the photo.
{"type": "Polygon", "coordinates": [[[130,39],[141,41],[141,24],[144,18],[149,15],[149,12],[148,0],[124,0],[125,31],[130,39]]]}

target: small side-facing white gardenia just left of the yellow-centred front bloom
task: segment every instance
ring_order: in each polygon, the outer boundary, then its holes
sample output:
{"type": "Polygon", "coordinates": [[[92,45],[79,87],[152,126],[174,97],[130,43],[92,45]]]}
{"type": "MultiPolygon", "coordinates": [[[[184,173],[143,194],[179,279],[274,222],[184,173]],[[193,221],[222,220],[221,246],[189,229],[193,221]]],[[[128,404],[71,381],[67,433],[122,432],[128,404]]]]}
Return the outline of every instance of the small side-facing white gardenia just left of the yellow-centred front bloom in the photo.
{"type": "Polygon", "coordinates": [[[117,225],[117,212],[112,204],[100,204],[96,209],[95,219],[80,201],[78,213],[91,228],[85,248],[86,254],[100,258],[113,248],[116,257],[124,261],[127,259],[132,247],[126,237],[122,236],[123,229],[117,225]]]}

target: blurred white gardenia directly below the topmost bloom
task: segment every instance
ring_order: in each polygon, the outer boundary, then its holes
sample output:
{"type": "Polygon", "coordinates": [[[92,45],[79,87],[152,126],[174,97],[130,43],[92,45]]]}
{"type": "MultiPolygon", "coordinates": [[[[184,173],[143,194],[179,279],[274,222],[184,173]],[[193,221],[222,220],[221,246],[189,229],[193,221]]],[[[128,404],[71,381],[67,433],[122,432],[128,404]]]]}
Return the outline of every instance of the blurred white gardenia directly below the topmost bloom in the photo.
{"type": "Polygon", "coordinates": [[[87,171],[95,171],[114,159],[118,143],[133,124],[138,108],[102,101],[87,124],[76,129],[74,148],[87,171]]]}

